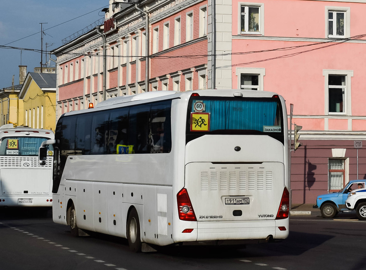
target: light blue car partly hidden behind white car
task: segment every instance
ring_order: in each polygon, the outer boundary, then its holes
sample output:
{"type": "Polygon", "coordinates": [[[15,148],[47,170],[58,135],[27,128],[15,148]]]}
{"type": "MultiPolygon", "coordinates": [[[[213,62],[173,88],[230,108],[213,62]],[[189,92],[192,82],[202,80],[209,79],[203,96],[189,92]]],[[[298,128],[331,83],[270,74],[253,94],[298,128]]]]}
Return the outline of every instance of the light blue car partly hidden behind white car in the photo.
{"type": "Polygon", "coordinates": [[[319,208],[323,218],[334,218],[340,211],[348,211],[345,201],[348,193],[358,188],[364,188],[366,180],[351,180],[343,189],[338,192],[319,195],[317,204],[313,208],[319,208]],[[358,187],[362,185],[362,187],[358,187]]]}

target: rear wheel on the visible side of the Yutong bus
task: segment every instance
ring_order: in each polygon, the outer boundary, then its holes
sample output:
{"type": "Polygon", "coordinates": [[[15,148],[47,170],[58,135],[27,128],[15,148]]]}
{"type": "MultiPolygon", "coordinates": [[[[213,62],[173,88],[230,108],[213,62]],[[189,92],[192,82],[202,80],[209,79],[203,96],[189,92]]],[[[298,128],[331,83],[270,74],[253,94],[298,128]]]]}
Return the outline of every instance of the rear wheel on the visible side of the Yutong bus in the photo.
{"type": "Polygon", "coordinates": [[[127,218],[127,240],[131,251],[141,252],[140,220],[136,208],[132,208],[127,218]]]}

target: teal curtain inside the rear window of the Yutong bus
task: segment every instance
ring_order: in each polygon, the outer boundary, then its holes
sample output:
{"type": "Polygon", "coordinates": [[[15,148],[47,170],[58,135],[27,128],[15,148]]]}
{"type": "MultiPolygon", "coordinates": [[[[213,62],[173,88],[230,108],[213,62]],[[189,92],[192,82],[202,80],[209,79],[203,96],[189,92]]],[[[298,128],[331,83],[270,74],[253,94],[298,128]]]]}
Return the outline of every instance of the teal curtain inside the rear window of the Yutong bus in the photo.
{"type": "MultiPolygon", "coordinates": [[[[193,101],[193,104],[196,100],[193,101]]],[[[204,113],[211,113],[210,131],[242,129],[263,131],[263,126],[275,125],[276,101],[204,100],[204,113]]],[[[194,112],[192,110],[192,112],[194,112]]]]}

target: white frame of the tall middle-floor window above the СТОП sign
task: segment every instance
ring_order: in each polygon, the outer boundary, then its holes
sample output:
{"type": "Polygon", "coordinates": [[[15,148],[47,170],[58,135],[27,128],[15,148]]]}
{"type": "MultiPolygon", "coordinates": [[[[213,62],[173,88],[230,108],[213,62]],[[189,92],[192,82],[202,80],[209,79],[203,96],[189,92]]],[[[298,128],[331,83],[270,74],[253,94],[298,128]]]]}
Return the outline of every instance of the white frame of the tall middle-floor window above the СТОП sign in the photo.
{"type": "MultiPolygon", "coordinates": [[[[353,77],[353,70],[331,70],[331,69],[323,69],[323,76],[325,81],[325,115],[352,115],[352,106],[351,106],[351,77],[353,77]],[[329,75],[341,75],[346,76],[346,85],[344,87],[344,112],[329,112],[329,75]]],[[[341,88],[341,85],[334,85],[331,88],[341,88]]]]}

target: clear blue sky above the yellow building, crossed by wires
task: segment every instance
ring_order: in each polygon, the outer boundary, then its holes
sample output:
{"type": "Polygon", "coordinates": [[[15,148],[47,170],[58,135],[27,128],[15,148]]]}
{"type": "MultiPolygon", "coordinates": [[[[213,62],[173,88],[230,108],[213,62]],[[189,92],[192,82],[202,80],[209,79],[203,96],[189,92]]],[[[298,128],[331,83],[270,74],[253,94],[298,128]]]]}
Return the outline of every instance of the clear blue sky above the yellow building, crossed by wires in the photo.
{"type": "MultiPolygon", "coordinates": [[[[44,30],[43,49],[45,43],[52,44],[47,50],[53,50],[62,45],[61,40],[78,32],[91,23],[104,17],[104,12],[100,12],[103,7],[108,6],[108,0],[0,0],[0,45],[41,49],[41,33],[27,37],[41,31],[40,22],[44,24],[44,29],[79,17],[90,11],[90,14],[82,16],[73,21],[64,23],[55,28],[44,30]]],[[[56,59],[55,56],[52,56],[56,59]]],[[[45,55],[43,56],[45,62],[45,55]]],[[[33,72],[34,67],[39,67],[41,54],[39,52],[22,51],[22,65],[27,66],[27,72],[33,72]]],[[[19,84],[20,50],[0,48],[0,88],[11,86],[12,76],[14,84],[19,84]]],[[[55,63],[51,61],[51,65],[55,63]]]]}

